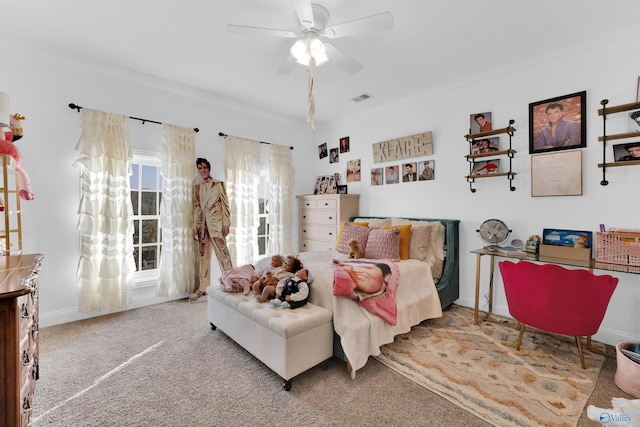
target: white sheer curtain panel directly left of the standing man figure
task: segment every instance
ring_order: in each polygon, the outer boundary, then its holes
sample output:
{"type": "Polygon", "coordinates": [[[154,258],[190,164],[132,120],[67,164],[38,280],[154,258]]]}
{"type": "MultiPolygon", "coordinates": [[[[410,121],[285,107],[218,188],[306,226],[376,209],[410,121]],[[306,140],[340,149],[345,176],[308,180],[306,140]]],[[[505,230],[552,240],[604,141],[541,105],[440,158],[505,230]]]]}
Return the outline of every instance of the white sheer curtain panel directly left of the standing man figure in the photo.
{"type": "Polygon", "coordinates": [[[191,236],[195,141],[193,129],[162,125],[162,253],[158,296],[186,294],[196,289],[196,252],[191,236]]]}

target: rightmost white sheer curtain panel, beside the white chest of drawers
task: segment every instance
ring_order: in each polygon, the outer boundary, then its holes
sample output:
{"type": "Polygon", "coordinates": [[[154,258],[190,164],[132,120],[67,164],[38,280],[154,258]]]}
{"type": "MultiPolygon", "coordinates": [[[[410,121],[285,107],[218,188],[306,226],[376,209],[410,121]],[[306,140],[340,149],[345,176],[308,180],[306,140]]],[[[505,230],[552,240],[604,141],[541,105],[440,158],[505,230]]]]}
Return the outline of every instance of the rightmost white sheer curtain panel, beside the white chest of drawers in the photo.
{"type": "Polygon", "coordinates": [[[270,144],[268,254],[293,253],[293,174],[291,149],[270,144]]]}

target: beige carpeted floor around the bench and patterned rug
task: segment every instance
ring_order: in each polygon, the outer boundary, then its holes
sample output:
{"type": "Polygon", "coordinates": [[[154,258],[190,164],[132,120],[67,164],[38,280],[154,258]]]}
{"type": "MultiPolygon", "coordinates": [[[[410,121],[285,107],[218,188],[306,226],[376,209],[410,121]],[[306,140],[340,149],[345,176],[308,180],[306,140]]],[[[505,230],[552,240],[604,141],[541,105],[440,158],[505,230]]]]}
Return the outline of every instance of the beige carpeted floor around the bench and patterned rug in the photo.
{"type": "MultiPolygon", "coordinates": [[[[489,426],[375,359],[331,359],[291,391],[220,331],[206,303],[173,301],[40,330],[32,426],[489,426]]],[[[629,397],[607,359],[587,403],[629,397]]],[[[584,415],[579,426],[599,425],[584,415]]]]}

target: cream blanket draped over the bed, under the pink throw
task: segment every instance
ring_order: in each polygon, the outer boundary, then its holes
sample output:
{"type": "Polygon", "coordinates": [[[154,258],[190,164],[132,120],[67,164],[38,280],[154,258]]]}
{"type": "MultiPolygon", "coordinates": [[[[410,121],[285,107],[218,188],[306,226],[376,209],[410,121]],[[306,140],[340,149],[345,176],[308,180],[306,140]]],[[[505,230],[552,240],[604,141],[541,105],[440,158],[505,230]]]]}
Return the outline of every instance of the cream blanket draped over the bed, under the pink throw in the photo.
{"type": "Polygon", "coordinates": [[[298,258],[313,276],[309,301],[333,312],[333,328],[351,365],[351,377],[369,356],[380,354],[380,347],[393,342],[396,335],[425,319],[442,316],[440,298],[431,276],[431,266],[415,259],[398,262],[400,285],[396,294],[396,325],[360,307],[355,301],[333,295],[333,259],[347,260],[336,251],[301,252],[298,258]]]}

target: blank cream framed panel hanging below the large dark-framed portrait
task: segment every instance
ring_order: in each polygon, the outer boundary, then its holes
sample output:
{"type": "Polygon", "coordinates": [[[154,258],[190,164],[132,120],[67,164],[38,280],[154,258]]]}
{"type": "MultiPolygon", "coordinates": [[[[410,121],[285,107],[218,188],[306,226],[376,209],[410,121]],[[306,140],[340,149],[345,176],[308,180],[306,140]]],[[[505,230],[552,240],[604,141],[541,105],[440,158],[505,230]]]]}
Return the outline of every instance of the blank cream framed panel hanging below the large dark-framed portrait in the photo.
{"type": "Polygon", "coordinates": [[[581,150],[531,156],[531,196],[581,195],[581,150]]]}

